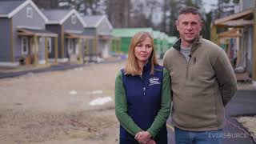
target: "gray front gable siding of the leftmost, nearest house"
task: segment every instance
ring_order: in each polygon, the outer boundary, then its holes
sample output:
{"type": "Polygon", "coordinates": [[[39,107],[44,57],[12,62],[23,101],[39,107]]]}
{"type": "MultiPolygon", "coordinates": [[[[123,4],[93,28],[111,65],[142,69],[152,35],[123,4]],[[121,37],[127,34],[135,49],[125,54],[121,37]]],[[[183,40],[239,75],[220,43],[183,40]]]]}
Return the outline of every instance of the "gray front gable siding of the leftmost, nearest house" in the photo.
{"type": "Polygon", "coordinates": [[[37,13],[36,10],[32,6],[27,5],[22,10],[18,11],[17,14],[13,16],[13,26],[14,26],[14,58],[21,57],[22,55],[22,47],[21,47],[21,39],[17,35],[17,26],[26,26],[36,28],[45,29],[45,21],[44,19],[37,13]],[[33,18],[26,17],[26,8],[31,7],[33,10],[33,18]]]}

